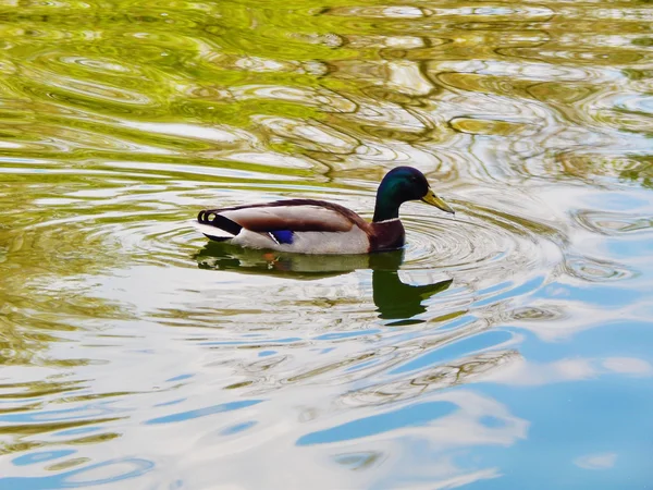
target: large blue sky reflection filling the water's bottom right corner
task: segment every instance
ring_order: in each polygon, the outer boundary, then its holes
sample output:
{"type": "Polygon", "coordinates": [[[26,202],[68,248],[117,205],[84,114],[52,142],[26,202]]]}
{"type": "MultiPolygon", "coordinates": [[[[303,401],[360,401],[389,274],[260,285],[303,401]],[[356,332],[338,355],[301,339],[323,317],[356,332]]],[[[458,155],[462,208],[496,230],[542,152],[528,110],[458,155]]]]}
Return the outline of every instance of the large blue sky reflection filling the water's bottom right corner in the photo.
{"type": "Polygon", "coordinates": [[[642,470],[651,468],[653,454],[653,400],[644,394],[650,383],[615,376],[520,390],[483,384],[482,392],[530,421],[528,440],[502,451],[472,448],[467,461],[510,470],[466,488],[651,488],[653,469],[642,470]]]}

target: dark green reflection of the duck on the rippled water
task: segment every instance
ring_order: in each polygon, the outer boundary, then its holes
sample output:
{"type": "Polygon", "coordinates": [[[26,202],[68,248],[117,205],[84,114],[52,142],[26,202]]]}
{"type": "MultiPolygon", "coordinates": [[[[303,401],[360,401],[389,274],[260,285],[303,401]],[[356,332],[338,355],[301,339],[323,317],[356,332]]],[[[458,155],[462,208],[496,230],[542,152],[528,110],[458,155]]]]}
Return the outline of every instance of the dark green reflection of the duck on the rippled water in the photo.
{"type": "Polygon", "coordinates": [[[257,250],[209,242],[196,256],[200,269],[227,270],[249,274],[269,274],[297,280],[318,280],[355,270],[372,270],[372,299],[379,317],[397,320],[393,324],[414,323],[427,310],[424,301],[448,289],[452,280],[411,285],[402,282],[399,267],[404,250],[369,255],[303,255],[257,250]]]}

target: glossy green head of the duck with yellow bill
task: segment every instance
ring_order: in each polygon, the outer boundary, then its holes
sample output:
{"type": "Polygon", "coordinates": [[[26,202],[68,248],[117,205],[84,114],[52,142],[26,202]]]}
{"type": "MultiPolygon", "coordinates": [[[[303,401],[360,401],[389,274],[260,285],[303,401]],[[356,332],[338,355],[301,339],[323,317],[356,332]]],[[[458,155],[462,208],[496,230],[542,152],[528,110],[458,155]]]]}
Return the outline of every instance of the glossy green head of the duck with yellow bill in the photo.
{"type": "Polygon", "coordinates": [[[407,200],[423,200],[443,211],[454,210],[433,193],[427,177],[412,167],[397,167],[385,174],[377,192],[373,221],[399,217],[399,206],[407,200]]]}

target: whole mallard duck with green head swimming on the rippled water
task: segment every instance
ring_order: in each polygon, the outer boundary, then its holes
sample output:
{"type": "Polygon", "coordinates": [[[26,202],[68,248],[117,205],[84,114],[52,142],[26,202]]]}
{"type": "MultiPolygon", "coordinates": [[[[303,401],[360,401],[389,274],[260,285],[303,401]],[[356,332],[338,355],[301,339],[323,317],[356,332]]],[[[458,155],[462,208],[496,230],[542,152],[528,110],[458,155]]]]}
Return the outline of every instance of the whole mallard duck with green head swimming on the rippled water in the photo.
{"type": "Polygon", "coordinates": [[[379,185],[371,223],[333,203],[287,199],[204,209],[197,216],[197,228],[211,240],[243,247],[299,254],[368,254],[404,246],[399,207],[407,200],[422,200],[454,212],[433,193],[423,173],[412,167],[397,167],[379,185]]]}

